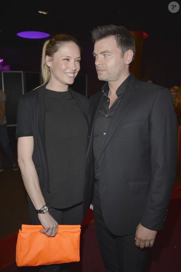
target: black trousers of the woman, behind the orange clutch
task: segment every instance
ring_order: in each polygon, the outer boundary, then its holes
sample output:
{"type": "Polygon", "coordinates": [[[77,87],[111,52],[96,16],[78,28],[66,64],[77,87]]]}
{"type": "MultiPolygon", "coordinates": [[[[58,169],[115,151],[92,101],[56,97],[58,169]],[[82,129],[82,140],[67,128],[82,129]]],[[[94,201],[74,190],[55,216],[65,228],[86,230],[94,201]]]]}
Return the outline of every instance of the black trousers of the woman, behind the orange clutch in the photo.
{"type": "MultiPolygon", "coordinates": [[[[40,221],[36,214],[35,207],[31,201],[28,201],[30,221],[32,225],[40,225],[40,221]]],[[[55,209],[48,207],[49,213],[57,221],[59,225],[81,225],[83,220],[82,203],[74,205],[66,209],[55,209]]],[[[60,265],[42,265],[40,272],[68,272],[68,264],[60,265]]]]}

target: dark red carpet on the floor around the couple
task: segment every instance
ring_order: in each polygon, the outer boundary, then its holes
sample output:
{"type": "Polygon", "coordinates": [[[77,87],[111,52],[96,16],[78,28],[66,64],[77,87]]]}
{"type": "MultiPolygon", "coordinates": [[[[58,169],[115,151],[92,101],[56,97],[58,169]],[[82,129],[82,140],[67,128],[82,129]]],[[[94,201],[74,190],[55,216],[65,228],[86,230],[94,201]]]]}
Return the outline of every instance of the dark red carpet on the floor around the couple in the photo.
{"type": "MultiPolygon", "coordinates": [[[[145,272],[181,272],[181,190],[179,188],[180,186],[174,187],[164,230],[158,232],[154,247],[149,249],[145,272]]],[[[93,213],[89,210],[81,230],[81,261],[71,263],[69,272],[105,272],[93,221],[93,213]]],[[[17,267],[16,240],[17,233],[0,240],[0,271],[38,272],[37,267],[17,267]]]]}

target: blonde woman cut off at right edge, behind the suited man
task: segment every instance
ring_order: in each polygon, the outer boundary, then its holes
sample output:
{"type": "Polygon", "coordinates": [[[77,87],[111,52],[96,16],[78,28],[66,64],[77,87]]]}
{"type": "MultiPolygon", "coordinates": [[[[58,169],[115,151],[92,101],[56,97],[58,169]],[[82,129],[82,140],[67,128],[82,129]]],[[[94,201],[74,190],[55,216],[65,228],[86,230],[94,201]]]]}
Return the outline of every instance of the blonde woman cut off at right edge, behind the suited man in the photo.
{"type": "Polygon", "coordinates": [[[178,164],[181,164],[181,89],[178,86],[170,88],[178,121],[178,164]]]}

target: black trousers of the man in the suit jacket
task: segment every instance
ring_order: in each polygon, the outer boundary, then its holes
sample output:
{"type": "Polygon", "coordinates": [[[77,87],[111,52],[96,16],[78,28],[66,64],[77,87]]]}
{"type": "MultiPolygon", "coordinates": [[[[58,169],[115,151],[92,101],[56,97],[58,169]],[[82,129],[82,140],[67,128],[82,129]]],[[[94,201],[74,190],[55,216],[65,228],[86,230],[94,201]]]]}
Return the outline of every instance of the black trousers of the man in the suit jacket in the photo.
{"type": "Polygon", "coordinates": [[[96,182],[93,200],[94,220],[100,252],[106,271],[142,272],[146,263],[148,250],[141,250],[135,246],[135,233],[116,236],[108,230],[102,214],[99,186],[96,182]]]}

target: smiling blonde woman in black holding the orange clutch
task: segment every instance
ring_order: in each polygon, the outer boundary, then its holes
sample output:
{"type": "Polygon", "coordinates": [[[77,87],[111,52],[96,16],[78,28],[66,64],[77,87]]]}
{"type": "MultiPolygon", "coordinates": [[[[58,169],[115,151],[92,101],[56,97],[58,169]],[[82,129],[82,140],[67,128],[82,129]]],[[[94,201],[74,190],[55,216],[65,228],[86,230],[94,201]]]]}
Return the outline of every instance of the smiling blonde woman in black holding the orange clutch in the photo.
{"type": "MultiPolygon", "coordinates": [[[[88,99],[73,91],[80,70],[79,42],[66,34],[47,40],[42,51],[43,85],[22,95],[17,110],[18,164],[28,194],[32,225],[52,237],[59,225],[83,219],[88,99]]],[[[63,271],[68,271],[64,265],[63,271]]],[[[61,271],[61,265],[39,271],[61,271]]]]}

